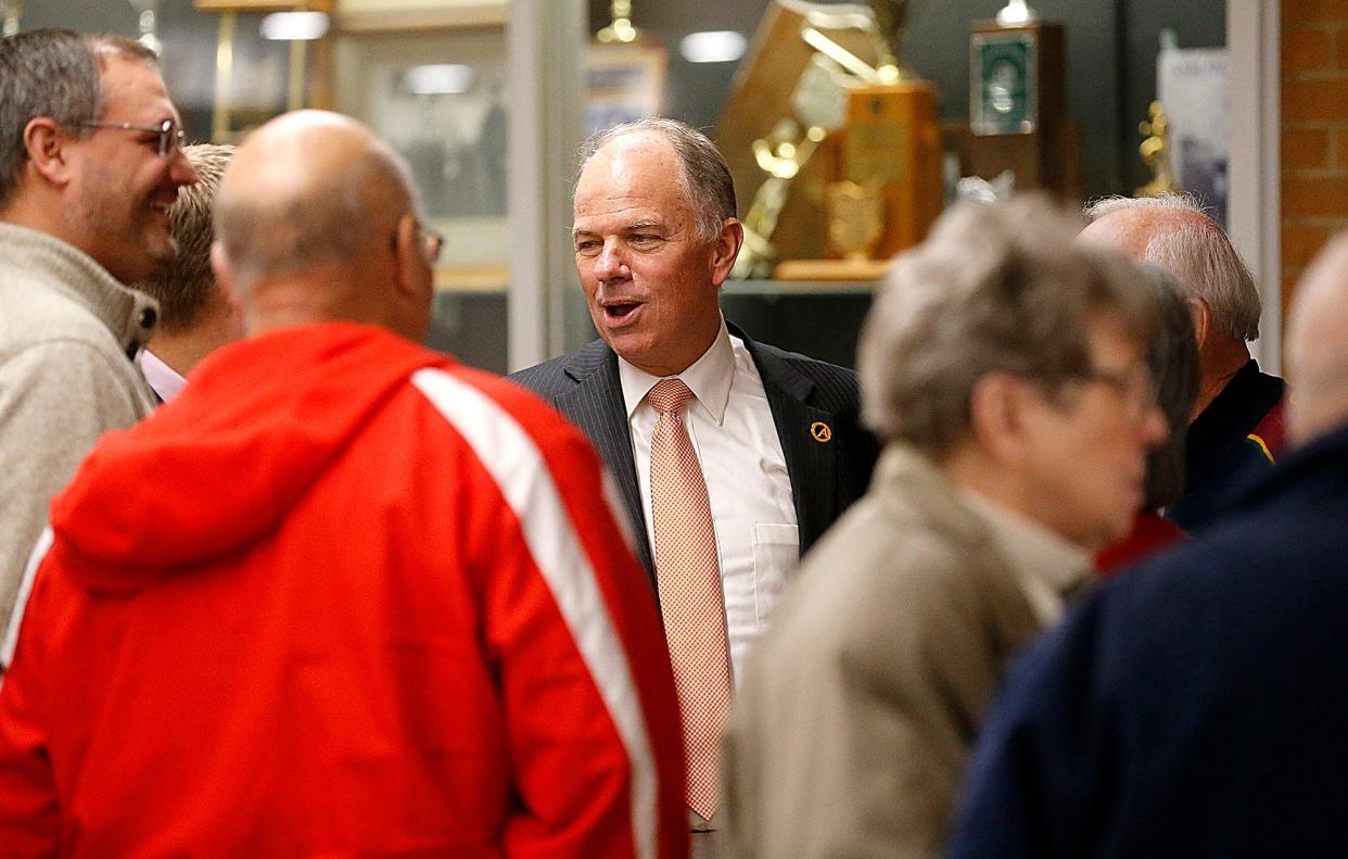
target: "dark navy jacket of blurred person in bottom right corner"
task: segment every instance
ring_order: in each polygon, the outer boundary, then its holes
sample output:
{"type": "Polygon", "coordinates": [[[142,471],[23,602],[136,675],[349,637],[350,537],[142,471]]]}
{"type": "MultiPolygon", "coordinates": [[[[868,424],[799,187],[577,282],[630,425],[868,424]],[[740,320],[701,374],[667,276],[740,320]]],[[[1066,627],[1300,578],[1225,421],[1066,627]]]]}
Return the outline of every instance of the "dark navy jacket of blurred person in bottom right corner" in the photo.
{"type": "Polygon", "coordinates": [[[950,855],[1344,855],[1348,426],[1039,639],[950,855]]]}

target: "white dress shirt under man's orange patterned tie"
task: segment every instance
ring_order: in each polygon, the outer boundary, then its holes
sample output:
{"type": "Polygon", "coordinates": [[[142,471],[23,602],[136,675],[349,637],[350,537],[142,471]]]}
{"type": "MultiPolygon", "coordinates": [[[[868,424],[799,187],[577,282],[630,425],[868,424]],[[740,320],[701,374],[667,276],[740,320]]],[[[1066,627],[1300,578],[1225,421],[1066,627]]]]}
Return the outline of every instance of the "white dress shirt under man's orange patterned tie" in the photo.
{"type": "MultiPolygon", "coordinates": [[[[636,484],[646,512],[646,535],[654,546],[651,433],[659,415],[646,402],[646,394],[661,378],[621,357],[617,371],[632,436],[636,484]]],[[[693,391],[683,423],[706,480],[721,565],[731,676],[737,686],[744,657],[763,632],[772,605],[799,561],[791,477],[758,367],[744,341],[731,337],[724,320],[702,357],[677,378],[693,391]]]]}

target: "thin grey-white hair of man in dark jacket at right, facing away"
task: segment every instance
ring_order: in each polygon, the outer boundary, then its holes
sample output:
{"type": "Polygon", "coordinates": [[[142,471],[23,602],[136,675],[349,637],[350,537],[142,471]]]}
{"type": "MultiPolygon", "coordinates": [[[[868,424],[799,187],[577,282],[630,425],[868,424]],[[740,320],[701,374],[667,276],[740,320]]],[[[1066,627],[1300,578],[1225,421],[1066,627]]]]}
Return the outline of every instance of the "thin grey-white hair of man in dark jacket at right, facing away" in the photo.
{"type": "Polygon", "coordinates": [[[1212,314],[1212,333],[1244,343],[1259,337],[1254,276],[1221,227],[1186,196],[1111,197],[1086,208],[1081,241],[1107,244],[1167,271],[1212,314]]]}

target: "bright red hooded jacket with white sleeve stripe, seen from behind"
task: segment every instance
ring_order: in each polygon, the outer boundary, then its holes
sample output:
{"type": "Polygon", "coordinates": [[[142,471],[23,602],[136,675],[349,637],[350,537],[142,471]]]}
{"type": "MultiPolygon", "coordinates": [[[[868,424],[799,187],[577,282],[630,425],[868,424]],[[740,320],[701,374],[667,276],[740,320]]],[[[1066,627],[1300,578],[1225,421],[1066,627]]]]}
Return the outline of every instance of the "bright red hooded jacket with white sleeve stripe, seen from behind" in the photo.
{"type": "Polygon", "coordinates": [[[607,498],[547,406],[387,332],[216,353],[53,503],[0,654],[0,854],[686,855],[607,498]]]}

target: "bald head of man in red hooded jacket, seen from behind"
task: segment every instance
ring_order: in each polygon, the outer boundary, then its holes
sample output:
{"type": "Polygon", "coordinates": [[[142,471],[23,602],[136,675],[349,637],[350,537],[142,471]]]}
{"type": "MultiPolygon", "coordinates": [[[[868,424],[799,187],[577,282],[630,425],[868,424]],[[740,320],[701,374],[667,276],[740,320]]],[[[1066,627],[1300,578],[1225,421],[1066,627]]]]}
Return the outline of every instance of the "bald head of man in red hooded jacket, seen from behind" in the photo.
{"type": "Polygon", "coordinates": [[[220,185],[216,237],[217,272],[240,294],[249,320],[266,303],[257,293],[276,285],[284,285],[290,306],[313,307],[311,321],[396,330],[381,305],[399,293],[386,287],[419,291],[422,279],[429,305],[430,267],[408,171],[365,125],[338,113],[286,113],[244,140],[220,185]],[[418,283],[400,283],[408,278],[418,283]]]}

